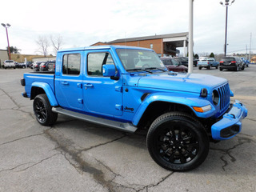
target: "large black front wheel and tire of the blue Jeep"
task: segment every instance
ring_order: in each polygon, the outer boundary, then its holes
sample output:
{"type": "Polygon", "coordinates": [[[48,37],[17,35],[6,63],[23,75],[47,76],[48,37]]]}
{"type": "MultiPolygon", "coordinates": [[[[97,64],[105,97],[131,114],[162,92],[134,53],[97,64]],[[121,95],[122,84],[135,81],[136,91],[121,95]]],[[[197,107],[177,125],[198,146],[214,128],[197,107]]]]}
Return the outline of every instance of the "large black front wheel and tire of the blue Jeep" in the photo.
{"type": "Polygon", "coordinates": [[[154,162],[174,171],[196,168],[209,152],[209,138],[201,122],[181,112],[162,114],[154,120],[146,145],[154,162]]]}

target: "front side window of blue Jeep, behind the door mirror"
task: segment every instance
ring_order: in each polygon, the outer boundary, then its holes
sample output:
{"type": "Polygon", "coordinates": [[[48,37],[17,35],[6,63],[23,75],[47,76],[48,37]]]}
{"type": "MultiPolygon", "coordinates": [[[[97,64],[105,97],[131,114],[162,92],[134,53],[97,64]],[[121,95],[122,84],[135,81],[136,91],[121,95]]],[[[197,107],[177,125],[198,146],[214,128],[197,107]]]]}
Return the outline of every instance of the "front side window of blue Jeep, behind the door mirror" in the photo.
{"type": "Polygon", "coordinates": [[[103,76],[103,65],[114,65],[110,53],[90,53],[87,56],[87,73],[92,76],[103,76]]]}

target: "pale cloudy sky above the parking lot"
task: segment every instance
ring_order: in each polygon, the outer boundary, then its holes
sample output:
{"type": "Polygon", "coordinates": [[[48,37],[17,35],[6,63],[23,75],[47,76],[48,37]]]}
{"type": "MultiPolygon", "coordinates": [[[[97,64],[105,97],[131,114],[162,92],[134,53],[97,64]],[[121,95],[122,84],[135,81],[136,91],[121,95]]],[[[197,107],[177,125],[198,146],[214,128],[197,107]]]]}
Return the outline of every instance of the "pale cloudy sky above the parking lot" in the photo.
{"type": "MultiPolygon", "coordinates": [[[[221,0],[194,0],[194,54],[224,52],[226,7],[221,0]]],[[[224,1],[224,0],[222,0],[224,1]]],[[[12,0],[2,1],[0,23],[10,23],[10,46],[40,54],[39,36],[61,35],[62,48],[90,46],[119,38],[175,34],[189,30],[190,0],[12,0]]],[[[256,53],[256,1],[229,6],[227,53],[256,53]],[[250,41],[251,34],[251,41],[250,41]],[[250,44],[251,42],[251,44],[250,44]]],[[[0,49],[7,46],[0,26],[0,49]]],[[[183,51],[183,49],[180,49],[183,51]]],[[[50,53],[54,54],[52,48],[50,53]]]]}

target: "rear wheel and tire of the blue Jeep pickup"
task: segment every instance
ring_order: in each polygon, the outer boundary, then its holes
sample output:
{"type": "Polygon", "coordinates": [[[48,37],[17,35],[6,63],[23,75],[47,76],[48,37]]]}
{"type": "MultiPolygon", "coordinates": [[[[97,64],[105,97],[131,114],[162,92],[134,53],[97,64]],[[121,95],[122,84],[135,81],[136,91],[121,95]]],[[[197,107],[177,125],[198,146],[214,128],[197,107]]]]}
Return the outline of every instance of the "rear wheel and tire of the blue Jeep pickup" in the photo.
{"type": "Polygon", "coordinates": [[[57,121],[58,114],[52,112],[51,108],[46,94],[38,94],[34,98],[34,115],[42,126],[51,126],[57,121]]]}

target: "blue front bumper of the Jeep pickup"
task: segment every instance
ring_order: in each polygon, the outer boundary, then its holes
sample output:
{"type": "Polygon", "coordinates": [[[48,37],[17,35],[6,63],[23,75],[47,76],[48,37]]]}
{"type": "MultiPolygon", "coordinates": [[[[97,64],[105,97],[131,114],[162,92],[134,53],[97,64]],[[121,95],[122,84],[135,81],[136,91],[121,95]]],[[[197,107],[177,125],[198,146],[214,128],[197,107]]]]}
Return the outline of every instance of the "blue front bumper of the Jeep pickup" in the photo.
{"type": "Polygon", "coordinates": [[[246,106],[235,100],[229,112],[223,118],[211,126],[211,134],[214,140],[233,138],[242,130],[242,119],[246,118],[246,106]]]}

